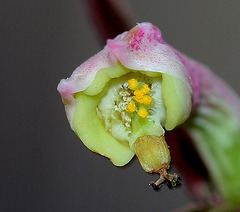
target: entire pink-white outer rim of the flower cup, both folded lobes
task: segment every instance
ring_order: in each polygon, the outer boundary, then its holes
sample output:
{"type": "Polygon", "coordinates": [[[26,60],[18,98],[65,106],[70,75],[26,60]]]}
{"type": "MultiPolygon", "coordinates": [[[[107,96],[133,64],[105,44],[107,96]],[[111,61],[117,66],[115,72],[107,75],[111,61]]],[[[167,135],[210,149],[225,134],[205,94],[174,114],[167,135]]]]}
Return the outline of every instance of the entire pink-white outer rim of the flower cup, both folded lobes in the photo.
{"type": "Polygon", "coordinates": [[[161,32],[151,23],[141,23],[116,38],[107,41],[102,51],[80,65],[68,79],[60,81],[61,94],[72,126],[75,111],[74,93],[85,90],[96,73],[107,67],[122,65],[132,70],[159,72],[181,79],[192,93],[190,76],[174,51],[163,41],[161,32]]]}

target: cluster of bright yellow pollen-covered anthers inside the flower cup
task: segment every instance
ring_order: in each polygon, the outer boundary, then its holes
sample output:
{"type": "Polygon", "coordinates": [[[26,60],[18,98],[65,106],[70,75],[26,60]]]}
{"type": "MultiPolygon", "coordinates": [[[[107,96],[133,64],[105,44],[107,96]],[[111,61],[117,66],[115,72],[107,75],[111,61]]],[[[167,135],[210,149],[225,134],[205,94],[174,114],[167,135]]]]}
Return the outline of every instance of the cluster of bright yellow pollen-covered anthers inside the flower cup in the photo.
{"type": "MultiPolygon", "coordinates": [[[[136,79],[130,79],[128,80],[128,88],[130,90],[133,90],[133,100],[140,104],[144,105],[150,105],[152,102],[152,98],[147,95],[150,92],[150,88],[147,84],[144,84],[142,88],[139,90],[139,83],[136,79]]],[[[127,105],[126,111],[129,113],[133,113],[137,110],[137,107],[133,101],[129,102],[127,105]]],[[[141,118],[146,118],[148,116],[148,111],[144,107],[140,107],[138,110],[138,115],[141,118]]]]}

